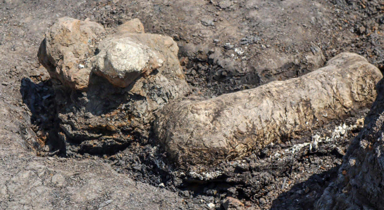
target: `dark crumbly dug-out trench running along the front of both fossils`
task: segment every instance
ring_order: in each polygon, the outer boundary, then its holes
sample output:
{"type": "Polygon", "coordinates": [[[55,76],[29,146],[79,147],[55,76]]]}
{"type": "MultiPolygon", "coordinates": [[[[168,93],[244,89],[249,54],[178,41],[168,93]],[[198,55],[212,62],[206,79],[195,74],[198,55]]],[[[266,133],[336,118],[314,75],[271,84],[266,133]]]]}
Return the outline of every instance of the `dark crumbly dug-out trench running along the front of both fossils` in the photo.
{"type": "Polygon", "coordinates": [[[159,150],[153,138],[149,138],[149,142],[132,140],[106,152],[67,153],[58,136],[59,119],[52,82],[50,79],[41,82],[40,78],[33,79],[23,79],[20,92],[23,103],[32,113],[31,128],[36,133],[33,150],[37,155],[95,158],[110,163],[117,172],[127,174],[136,181],[179,192],[190,200],[191,208],[200,204],[200,200],[220,203],[227,196],[238,198],[248,205],[271,206],[274,209],[313,208],[324,188],[336,178],[349,140],[360,131],[361,119],[368,111],[364,109],[347,118],[347,127],[343,128],[340,122],[330,122],[318,130],[306,132],[304,137],[268,145],[247,158],[220,163],[212,168],[213,171],[224,168],[227,171],[206,180],[205,177],[178,172],[173,163],[167,162],[166,154],[159,150]],[[315,135],[334,138],[313,148],[308,142],[315,135]],[[274,156],[279,153],[283,154],[283,158],[274,156]]]}

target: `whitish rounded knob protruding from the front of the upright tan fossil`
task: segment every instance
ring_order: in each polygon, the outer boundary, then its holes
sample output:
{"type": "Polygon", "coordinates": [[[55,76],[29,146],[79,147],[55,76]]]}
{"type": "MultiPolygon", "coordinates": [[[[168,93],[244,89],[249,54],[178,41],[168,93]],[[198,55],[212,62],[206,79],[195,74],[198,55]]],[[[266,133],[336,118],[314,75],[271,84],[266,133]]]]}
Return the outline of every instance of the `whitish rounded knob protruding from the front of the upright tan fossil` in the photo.
{"type": "Polygon", "coordinates": [[[118,87],[127,87],[140,75],[149,75],[160,68],[164,57],[142,42],[129,37],[114,36],[99,43],[100,52],[92,58],[94,73],[118,87]]]}

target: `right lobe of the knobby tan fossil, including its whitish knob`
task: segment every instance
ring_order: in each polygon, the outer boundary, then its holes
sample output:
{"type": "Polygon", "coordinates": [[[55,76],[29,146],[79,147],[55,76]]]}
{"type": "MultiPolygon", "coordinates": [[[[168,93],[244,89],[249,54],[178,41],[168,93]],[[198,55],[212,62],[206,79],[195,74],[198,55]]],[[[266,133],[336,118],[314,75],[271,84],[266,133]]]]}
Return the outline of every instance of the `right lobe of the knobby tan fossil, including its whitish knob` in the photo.
{"type": "MultiPolygon", "coordinates": [[[[118,27],[118,32],[99,43],[99,53],[91,58],[93,72],[118,87],[127,87],[140,77],[147,77],[166,62],[184,80],[177,43],[170,37],[144,33],[139,19],[118,27]]],[[[161,70],[161,69],[160,69],[161,70]]],[[[168,72],[168,71],[166,71],[168,72]]]]}

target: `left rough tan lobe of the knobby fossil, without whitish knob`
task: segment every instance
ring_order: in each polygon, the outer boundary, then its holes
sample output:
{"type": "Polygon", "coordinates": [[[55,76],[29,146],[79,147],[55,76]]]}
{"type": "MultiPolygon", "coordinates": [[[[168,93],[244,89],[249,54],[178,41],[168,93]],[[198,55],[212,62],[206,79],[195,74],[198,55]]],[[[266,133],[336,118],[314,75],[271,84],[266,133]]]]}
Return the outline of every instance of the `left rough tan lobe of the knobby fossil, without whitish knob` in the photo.
{"type": "Polygon", "coordinates": [[[91,40],[105,32],[102,25],[69,17],[60,18],[45,33],[38,59],[51,78],[81,90],[88,86],[91,68],[83,64],[91,40]]]}

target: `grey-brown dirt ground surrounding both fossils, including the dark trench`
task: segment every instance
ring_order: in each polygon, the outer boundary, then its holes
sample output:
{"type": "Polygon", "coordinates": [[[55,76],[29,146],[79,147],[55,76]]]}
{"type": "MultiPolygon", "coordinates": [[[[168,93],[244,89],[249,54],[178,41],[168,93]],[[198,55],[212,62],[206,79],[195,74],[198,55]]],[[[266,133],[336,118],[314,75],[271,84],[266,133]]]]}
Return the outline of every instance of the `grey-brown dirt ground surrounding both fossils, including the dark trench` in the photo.
{"type": "Polygon", "coordinates": [[[210,173],[175,168],[154,140],[61,153],[55,93],[36,58],[57,18],[106,28],[139,18],[146,32],[174,38],[191,94],[205,98],[303,75],[339,52],[384,70],[380,0],[3,0],[0,13],[2,209],[224,209],[227,196],[248,208],[312,209],[369,110],[210,173]]]}

